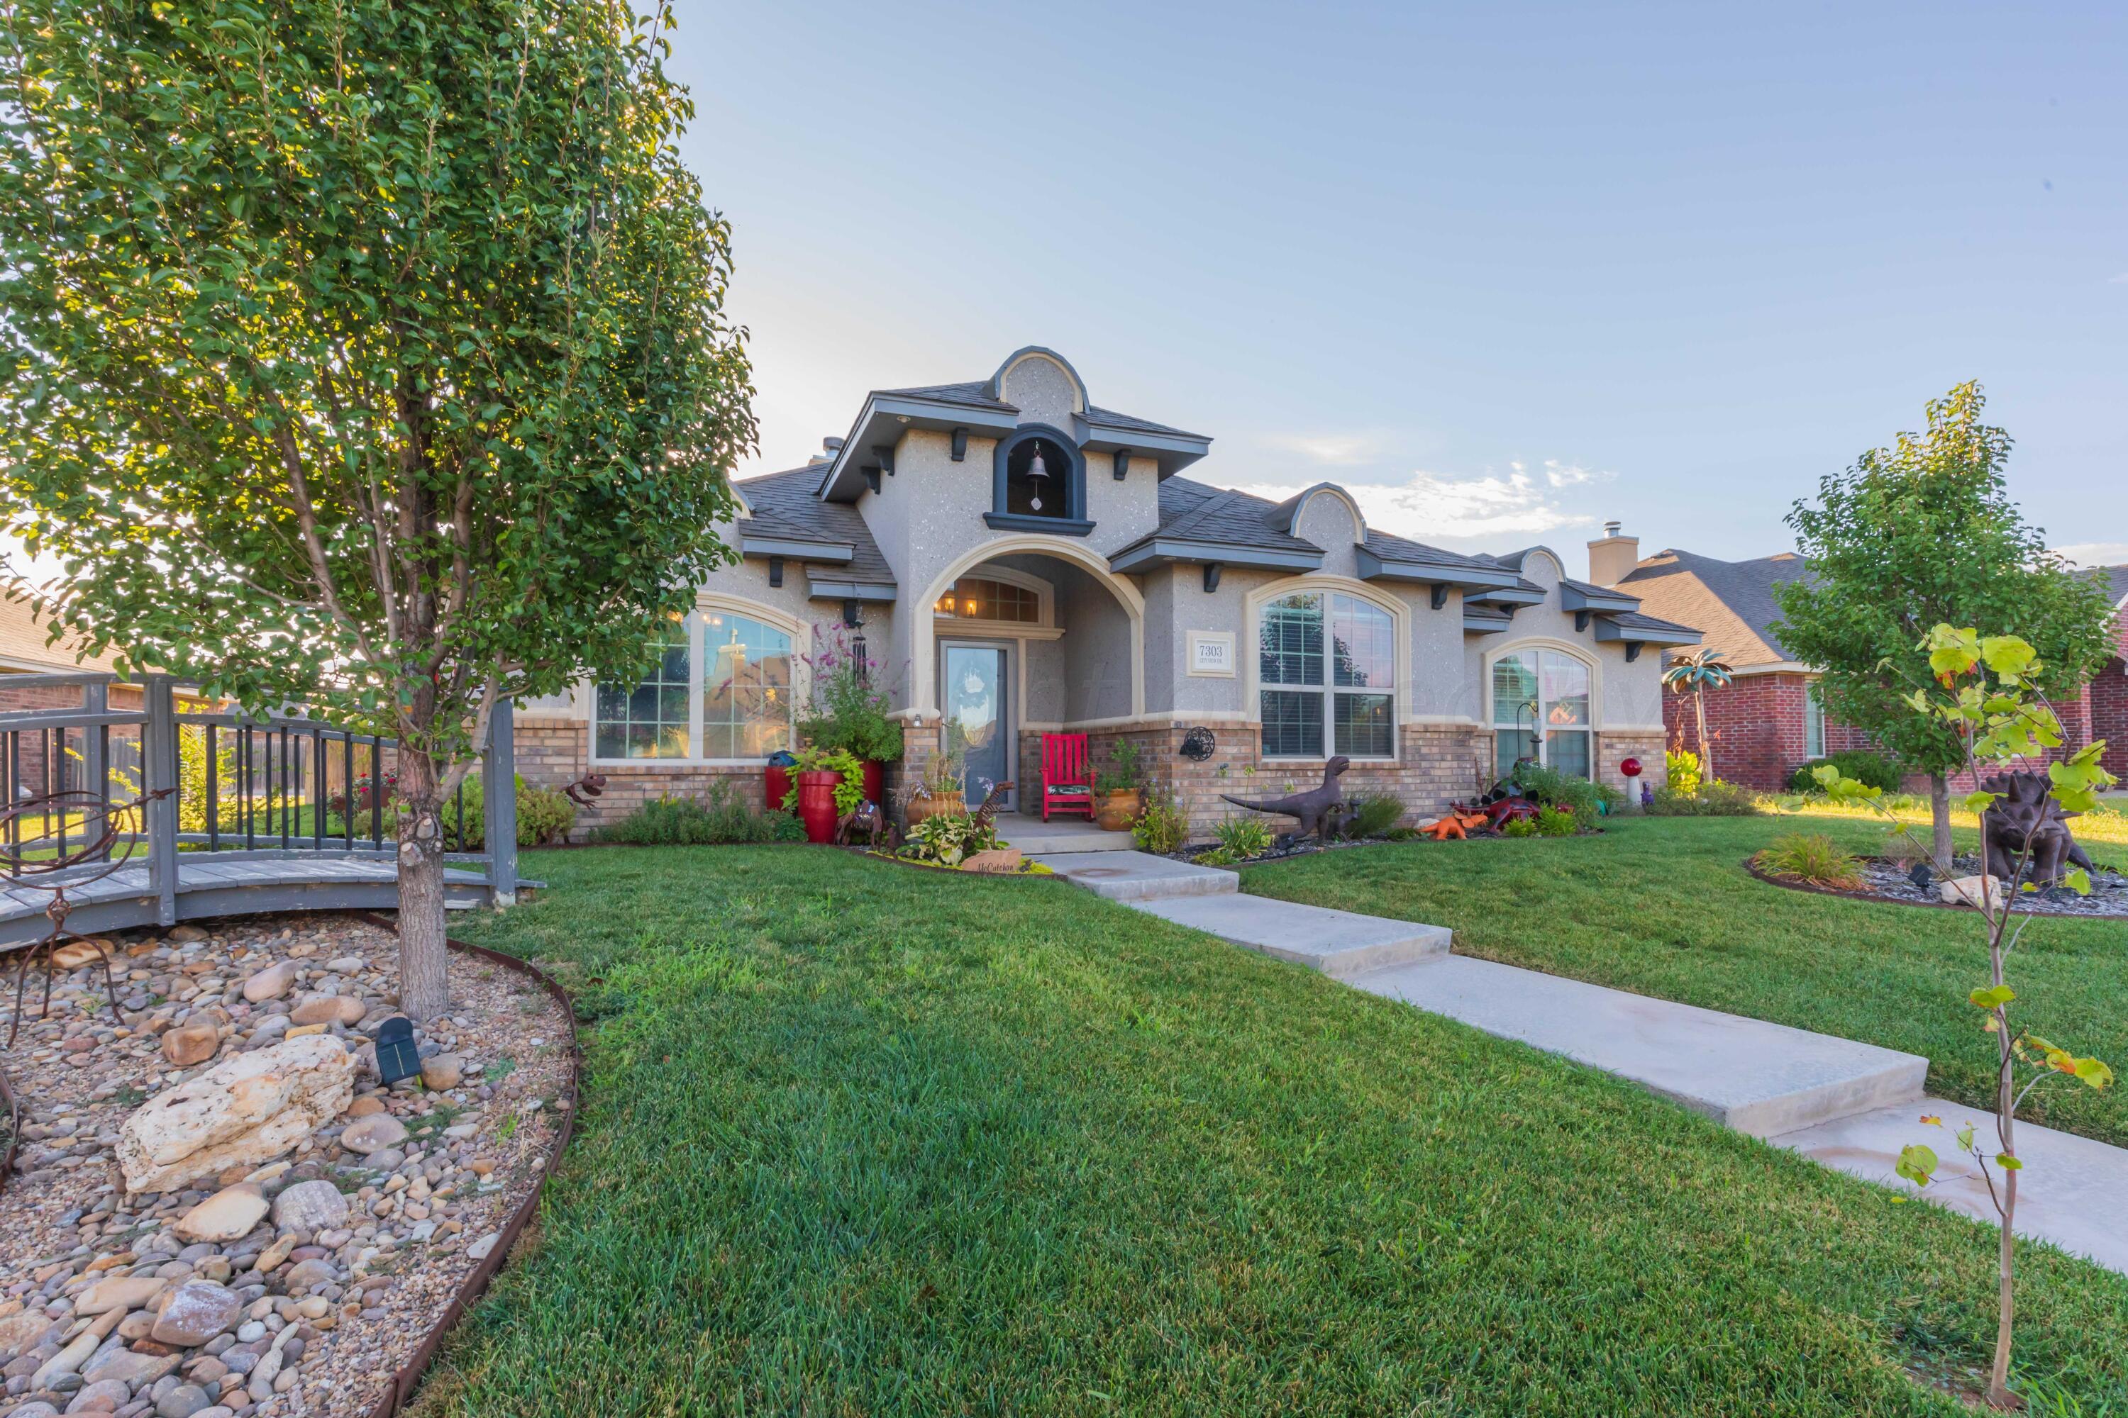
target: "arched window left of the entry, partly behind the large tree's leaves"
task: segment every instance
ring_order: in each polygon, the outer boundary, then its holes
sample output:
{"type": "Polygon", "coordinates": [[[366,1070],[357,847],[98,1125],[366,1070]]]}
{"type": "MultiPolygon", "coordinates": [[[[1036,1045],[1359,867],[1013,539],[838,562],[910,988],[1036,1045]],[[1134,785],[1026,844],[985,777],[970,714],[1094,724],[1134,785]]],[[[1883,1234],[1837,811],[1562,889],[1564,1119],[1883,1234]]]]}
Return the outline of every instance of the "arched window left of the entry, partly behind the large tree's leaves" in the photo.
{"type": "Polygon", "coordinates": [[[792,638],[721,608],[675,621],[651,676],[600,685],[592,757],[760,763],[794,744],[792,638]]]}

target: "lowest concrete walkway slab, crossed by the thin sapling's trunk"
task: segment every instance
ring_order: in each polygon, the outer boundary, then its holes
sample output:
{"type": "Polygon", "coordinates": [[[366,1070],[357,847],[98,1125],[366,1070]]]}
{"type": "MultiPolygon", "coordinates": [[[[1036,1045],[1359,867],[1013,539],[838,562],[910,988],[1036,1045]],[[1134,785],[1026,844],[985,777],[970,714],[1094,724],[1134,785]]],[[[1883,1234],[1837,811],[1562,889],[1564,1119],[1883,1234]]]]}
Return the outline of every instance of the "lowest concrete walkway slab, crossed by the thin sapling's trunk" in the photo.
{"type": "MultiPolygon", "coordinates": [[[[1824,1167],[1839,1167],[1909,1197],[1919,1195],[1964,1216],[1996,1222],[1988,1182],[1954,1142],[1966,1122],[1979,1125],[1979,1137],[1994,1154],[1994,1114],[1945,1103],[1939,1097],[1873,1108],[1777,1133],[1768,1142],[1794,1148],[1824,1167]],[[1943,1118],[1943,1127],[1922,1122],[1924,1112],[1943,1118]],[[1926,1188],[1915,1188],[1894,1171],[1898,1150],[1909,1142],[1926,1142],[1936,1150],[1941,1165],[1936,1180],[1926,1188]]],[[[2017,1235],[2051,1242],[2107,1269],[2128,1271],[2128,1227],[2119,1222],[2128,1212],[2128,1150],[2024,1120],[2017,1122],[2015,1137],[2017,1157],[2024,1159],[2024,1171],[2017,1174],[2017,1235]]],[[[1996,1171],[1996,1184],[2000,1180],[2002,1174],[1996,1171]]]]}

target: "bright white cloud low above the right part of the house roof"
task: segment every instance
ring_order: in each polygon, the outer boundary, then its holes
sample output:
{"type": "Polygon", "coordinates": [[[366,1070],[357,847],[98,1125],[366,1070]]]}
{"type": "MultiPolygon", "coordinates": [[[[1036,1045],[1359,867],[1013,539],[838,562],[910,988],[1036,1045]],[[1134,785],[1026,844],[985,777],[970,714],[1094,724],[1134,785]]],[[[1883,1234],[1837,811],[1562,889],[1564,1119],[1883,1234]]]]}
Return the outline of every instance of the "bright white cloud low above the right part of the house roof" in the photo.
{"type": "MultiPolygon", "coordinates": [[[[1596,517],[1566,504],[1568,489],[1609,483],[1609,472],[1545,459],[1534,472],[1509,463],[1507,474],[1451,476],[1413,472],[1404,483],[1349,485],[1366,525],[1415,542],[1458,551],[1513,551],[1524,540],[1562,527],[1594,527],[1596,517]]],[[[1241,491],[1283,502],[1304,483],[1256,483],[1241,491]]]]}

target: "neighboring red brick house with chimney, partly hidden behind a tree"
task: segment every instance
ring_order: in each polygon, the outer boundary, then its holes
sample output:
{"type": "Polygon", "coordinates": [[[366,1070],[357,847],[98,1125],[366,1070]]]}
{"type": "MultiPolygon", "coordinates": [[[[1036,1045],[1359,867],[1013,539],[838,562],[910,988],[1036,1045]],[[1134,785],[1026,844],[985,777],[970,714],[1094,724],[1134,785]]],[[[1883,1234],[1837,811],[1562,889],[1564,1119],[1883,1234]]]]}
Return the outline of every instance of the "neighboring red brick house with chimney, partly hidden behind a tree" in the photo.
{"type": "MultiPolygon", "coordinates": [[[[1871,746],[1860,729],[1826,719],[1813,693],[1817,672],[1796,661],[1775,631],[1781,619],[1775,587],[1809,574],[1802,557],[1719,561],[1668,548],[1641,559],[1639,538],[1617,536],[1615,523],[1611,531],[1590,542],[1590,578],[1632,591],[1651,614],[1700,627],[1702,644],[1722,651],[1736,672],[1728,687],[1707,691],[1707,736],[1722,778],[1783,789],[1800,763],[1871,746]]],[[[2115,608],[2128,604],[2128,568],[2090,574],[2107,580],[2115,608]]],[[[2128,617],[2115,619],[2115,634],[2128,646],[2128,617]]],[[[1670,653],[1688,655],[1690,648],[1670,653]]],[[[2105,738],[2111,772],[2128,770],[2128,678],[2119,657],[2058,712],[2071,748],[2105,738]]],[[[1700,748],[1690,691],[1662,695],[1662,723],[1670,746],[1700,748]]]]}

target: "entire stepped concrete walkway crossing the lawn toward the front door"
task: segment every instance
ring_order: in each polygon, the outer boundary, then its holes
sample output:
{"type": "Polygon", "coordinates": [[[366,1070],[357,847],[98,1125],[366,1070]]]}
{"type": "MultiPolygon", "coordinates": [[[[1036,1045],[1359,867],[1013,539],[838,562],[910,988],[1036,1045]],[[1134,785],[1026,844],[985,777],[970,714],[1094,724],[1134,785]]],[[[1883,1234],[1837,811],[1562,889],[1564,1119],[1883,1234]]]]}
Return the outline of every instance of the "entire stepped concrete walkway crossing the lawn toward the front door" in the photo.
{"type": "MultiPolygon", "coordinates": [[[[1919,1054],[1449,955],[1443,927],[1241,895],[1232,872],[1138,850],[1041,861],[1134,910],[1630,1078],[1736,1131],[1909,1195],[1915,1188],[1892,1167],[1902,1146],[1926,1142],[1943,1165],[1919,1195],[1996,1218],[1975,1165],[1951,1146],[1960,1125],[1971,1118],[1985,1129],[1988,1118],[1924,1097],[1928,1059],[1919,1054]],[[1928,1127],[1922,1114],[1947,1127],[1928,1127]]],[[[2030,1122],[2017,1125],[2017,1150],[2028,1163],[2017,1235],[2128,1273],[2128,1227],[2119,1225],[2128,1150],[2030,1122]]]]}

